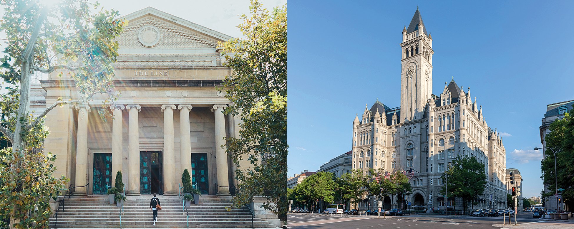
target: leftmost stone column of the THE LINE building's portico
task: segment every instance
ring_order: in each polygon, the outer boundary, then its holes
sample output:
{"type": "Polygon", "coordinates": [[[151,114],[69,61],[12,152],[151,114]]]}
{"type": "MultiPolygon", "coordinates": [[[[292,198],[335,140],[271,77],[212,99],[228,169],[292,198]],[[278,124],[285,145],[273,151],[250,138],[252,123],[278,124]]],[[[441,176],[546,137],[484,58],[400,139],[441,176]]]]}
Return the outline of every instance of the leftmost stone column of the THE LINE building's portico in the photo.
{"type": "MultiPolygon", "coordinates": [[[[75,186],[84,186],[87,182],[88,172],[88,105],[77,105],[77,139],[76,139],[76,182],[75,186]]],[[[88,187],[75,188],[73,195],[85,196],[88,187]]]]}

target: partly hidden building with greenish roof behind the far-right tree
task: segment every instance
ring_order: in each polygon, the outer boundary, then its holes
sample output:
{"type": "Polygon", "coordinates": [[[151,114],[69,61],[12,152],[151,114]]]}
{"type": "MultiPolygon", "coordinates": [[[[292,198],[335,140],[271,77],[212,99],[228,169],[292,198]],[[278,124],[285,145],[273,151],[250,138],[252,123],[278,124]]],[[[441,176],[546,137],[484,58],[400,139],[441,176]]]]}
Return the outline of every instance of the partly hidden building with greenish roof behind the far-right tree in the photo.
{"type": "MultiPolygon", "coordinates": [[[[574,105],[574,100],[568,100],[563,102],[556,102],[553,104],[548,104],[546,106],[546,113],[544,114],[544,118],[542,119],[542,125],[540,125],[540,143],[542,143],[542,156],[544,157],[543,160],[546,158],[546,135],[550,133],[550,124],[554,123],[556,120],[560,120],[564,118],[565,113],[569,110],[573,109],[572,105],[574,105]]],[[[548,153],[549,156],[553,156],[552,152],[548,153]]],[[[554,180],[552,181],[545,181],[544,182],[544,192],[546,193],[554,193],[556,192],[556,185],[554,185],[554,180]]],[[[562,195],[558,195],[558,198],[562,198],[562,195]]],[[[553,195],[548,198],[544,199],[544,207],[547,210],[556,210],[557,206],[564,210],[565,206],[564,203],[557,205],[557,198],[553,195]]]]}

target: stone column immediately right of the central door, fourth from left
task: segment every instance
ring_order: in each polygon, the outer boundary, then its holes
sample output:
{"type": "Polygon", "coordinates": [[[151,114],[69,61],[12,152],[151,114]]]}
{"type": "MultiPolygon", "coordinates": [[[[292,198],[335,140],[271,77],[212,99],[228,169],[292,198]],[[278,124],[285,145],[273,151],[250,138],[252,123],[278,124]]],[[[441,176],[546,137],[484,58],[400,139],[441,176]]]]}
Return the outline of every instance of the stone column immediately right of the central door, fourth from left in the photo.
{"type": "Polygon", "coordinates": [[[164,195],[167,196],[177,195],[177,188],[174,187],[174,184],[176,184],[176,159],[173,152],[175,148],[173,141],[173,109],[176,109],[175,105],[161,106],[161,112],[164,112],[164,161],[162,167],[164,168],[164,195]]]}

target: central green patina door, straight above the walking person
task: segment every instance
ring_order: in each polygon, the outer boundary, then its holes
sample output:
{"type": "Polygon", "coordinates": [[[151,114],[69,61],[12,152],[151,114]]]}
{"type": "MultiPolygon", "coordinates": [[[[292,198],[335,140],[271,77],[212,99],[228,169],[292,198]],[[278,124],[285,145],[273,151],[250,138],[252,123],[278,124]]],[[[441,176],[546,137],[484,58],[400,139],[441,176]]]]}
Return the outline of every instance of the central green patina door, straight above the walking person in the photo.
{"type": "Polygon", "coordinates": [[[141,194],[164,194],[161,151],[141,151],[140,159],[141,194]]]}

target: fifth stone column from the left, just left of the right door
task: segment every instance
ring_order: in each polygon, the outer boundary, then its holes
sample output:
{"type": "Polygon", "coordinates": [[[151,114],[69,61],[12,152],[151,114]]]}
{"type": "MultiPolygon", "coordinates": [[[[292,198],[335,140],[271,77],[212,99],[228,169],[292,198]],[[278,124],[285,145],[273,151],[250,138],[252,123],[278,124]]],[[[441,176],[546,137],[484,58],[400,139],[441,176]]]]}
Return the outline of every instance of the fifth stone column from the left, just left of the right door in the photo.
{"type": "MultiPolygon", "coordinates": [[[[180,109],[180,152],[181,161],[180,168],[183,173],[184,169],[187,168],[189,175],[191,176],[191,135],[189,133],[189,110],[193,106],[191,105],[179,105],[177,109],[180,109]]],[[[193,185],[193,184],[192,184],[193,185]]]]}

